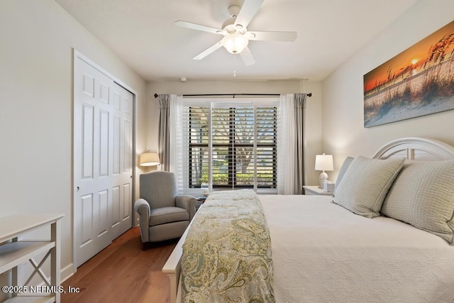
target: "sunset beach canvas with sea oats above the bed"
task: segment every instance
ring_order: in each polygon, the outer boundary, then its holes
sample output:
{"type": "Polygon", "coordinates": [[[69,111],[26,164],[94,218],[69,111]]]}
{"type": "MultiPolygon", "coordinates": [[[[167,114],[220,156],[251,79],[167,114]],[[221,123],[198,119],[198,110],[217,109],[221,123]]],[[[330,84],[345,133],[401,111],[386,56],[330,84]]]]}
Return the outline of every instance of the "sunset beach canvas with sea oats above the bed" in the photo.
{"type": "Polygon", "coordinates": [[[454,21],[364,75],[364,127],[454,109],[454,21]]]}

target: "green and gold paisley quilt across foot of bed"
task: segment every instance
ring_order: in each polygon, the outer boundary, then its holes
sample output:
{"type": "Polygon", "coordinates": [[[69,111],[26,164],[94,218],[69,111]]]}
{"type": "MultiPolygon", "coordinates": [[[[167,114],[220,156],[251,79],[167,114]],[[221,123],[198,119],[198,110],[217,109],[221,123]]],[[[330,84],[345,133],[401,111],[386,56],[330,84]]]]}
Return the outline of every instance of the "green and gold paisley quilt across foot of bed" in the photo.
{"type": "Polygon", "coordinates": [[[189,228],[183,302],[275,302],[271,240],[252,190],[213,192],[189,228]]]}

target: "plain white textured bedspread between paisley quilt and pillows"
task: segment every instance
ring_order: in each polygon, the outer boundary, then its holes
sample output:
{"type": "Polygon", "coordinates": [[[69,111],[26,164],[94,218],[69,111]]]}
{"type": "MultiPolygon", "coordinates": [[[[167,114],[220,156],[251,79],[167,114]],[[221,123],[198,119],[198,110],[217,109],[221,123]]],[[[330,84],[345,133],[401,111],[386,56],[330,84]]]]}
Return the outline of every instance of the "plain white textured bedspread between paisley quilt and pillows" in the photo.
{"type": "Polygon", "coordinates": [[[276,302],[454,302],[454,247],[326,196],[260,196],[276,302]]]}

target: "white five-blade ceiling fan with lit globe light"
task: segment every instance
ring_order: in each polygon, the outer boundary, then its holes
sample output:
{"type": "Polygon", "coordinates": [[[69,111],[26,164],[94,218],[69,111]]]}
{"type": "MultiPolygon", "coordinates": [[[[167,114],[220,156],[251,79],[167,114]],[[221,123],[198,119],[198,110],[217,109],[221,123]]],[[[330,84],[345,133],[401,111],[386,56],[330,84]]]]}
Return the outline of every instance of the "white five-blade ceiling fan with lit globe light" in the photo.
{"type": "Polygon", "coordinates": [[[253,65],[254,57],[248,48],[249,40],[263,41],[294,41],[297,38],[297,32],[294,31],[248,31],[248,24],[257,13],[263,0],[245,0],[243,6],[233,5],[228,8],[231,18],[228,18],[222,25],[222,28],[213,28],[201,24],[187,21],[176,21],[176,26],[191,28],[196,31],[205,31],[223,35],[223,38],[216,44],[211,45],[203,52],[196,55],[194,60],[201,60],[207,55],[214,53],[215,50],[223,46],[232,54],[240,54],[245,65],[253,65]]]}

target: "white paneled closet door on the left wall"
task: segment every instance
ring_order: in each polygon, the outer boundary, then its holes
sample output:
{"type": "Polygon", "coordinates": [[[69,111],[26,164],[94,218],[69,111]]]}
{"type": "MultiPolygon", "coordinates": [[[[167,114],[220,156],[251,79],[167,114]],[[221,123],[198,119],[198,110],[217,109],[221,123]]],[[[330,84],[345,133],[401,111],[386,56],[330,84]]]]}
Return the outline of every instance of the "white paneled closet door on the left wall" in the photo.
{"type": "Polygon", "coordinates": [[[131,228],[133,94],[74,58],[74,265],[131,228]]]}

